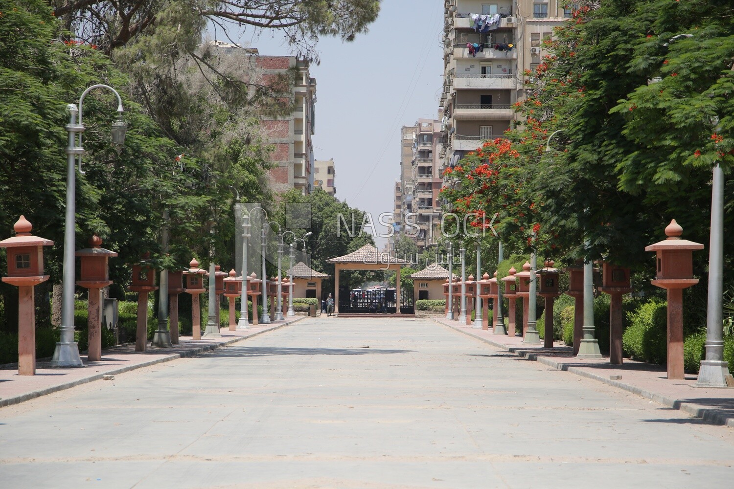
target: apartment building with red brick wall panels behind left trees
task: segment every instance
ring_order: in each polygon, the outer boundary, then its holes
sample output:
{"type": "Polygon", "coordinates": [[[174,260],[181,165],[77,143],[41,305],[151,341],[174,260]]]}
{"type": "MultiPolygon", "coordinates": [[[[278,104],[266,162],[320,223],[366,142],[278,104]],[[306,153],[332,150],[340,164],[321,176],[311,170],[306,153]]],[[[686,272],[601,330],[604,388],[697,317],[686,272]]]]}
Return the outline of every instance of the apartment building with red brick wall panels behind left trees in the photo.
{"type": "Polygon", "coordinates": [[[313,188],[313,144],[315,132],[316,78],[309,74],[308,62],[296,56],[265,56],[257,48],[212,41],[208,48],[216,49],[219,63],[236,63],[242,78],[253,84],[274,84],[283,76],[295,72],[290,96],[284,103],[293,103],[294,111],[285,117],[261,117],[264,137],[275,147],[269,170],[269,180],[275,193],[298,188],[307,195],[313,188]]]}

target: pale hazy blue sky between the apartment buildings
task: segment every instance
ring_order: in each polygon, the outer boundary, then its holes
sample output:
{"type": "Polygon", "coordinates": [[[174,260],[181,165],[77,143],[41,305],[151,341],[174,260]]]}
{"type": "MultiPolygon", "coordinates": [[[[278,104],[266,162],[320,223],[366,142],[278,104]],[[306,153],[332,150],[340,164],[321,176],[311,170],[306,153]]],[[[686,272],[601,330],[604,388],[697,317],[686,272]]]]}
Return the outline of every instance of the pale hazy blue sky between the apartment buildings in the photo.
{"type": "MultiPolygon", "coordinates": [[[[379,18],[353,43],[319,42],[317,160],[334,158],[336,196],[375,218],[393,210],[400,178],[400,128],[435,118],[442,85],[443,1],[384,0],[379,18]]],[[[289,54],[280,34],[252,40],[260,54],[289,54]]],[[[252,41],[252,42],[251,42],[252,41]]],[[[378,228],[378,232],[382,229],[378,228]]],[[[378,248],[385,243],[377,238],[378,248]]]]}

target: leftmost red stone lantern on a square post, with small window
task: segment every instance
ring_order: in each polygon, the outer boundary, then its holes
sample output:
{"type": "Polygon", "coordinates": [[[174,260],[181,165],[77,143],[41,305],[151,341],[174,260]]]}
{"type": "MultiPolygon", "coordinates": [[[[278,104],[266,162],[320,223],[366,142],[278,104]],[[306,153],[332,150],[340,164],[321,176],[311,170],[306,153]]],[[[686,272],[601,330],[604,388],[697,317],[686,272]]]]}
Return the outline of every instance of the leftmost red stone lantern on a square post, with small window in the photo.
{"type": "Polygon", "coordinates": [[[24,216],[13,226],[15,236],[0,241],[7,249],[6,284],[18,287],[18,375],[36,374],[36,312],[33,287],[48,280],[43,274],[43,246],[54,242],[31,234],[24,216]]]}

